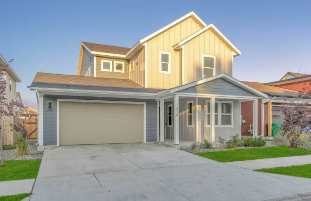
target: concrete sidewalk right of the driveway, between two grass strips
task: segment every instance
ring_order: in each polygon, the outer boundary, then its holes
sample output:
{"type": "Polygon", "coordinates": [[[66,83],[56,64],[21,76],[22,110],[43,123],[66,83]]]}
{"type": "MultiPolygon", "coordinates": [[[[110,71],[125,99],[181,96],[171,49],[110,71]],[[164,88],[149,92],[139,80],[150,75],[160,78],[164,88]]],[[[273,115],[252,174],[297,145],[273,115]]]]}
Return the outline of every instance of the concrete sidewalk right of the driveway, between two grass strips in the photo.
{"type": "Polygon", "coordinates": [[[238,166],[240,168],[245,168],[248,170],[287,167],[287,166],[311,164],[311,155],[244,160],[244,161],[229,162],[227,164],[238,166]]]}

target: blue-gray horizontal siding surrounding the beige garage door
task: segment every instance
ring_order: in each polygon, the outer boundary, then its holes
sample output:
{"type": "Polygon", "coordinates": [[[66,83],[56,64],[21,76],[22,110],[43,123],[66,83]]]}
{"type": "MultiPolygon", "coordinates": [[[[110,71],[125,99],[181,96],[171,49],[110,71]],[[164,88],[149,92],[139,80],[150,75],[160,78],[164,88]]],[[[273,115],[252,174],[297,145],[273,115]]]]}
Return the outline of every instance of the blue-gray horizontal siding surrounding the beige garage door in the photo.
{"type": "Polygon", "coordinates": [[[146,102],[146,141],[157,140],[157,102],[149,99],[129,98],[105,98],[85,96],[43,96],[43,145],[56,145],[57,135],[57,98],[60,99],[81,99],[81,100],[111,100],[111,101],[136,101],[146,102]],[[52,108],[48,108],[48,102],[52,102],[52,108]]]}

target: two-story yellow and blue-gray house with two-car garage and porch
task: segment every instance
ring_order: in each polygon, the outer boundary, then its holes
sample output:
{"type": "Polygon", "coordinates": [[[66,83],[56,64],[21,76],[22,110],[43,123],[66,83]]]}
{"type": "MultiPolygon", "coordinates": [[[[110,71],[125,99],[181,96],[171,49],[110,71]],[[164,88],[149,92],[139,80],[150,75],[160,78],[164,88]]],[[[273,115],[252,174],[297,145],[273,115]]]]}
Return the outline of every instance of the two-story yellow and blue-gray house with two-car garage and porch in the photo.
{"type": "Polygon", "coordinates": [[[241,103],[265,93],[232,77],[241,55],[194,12],[133,47],[82,42],[76,76],[37,73],[39,146],[172,141],[241,135],[241,103]]]}

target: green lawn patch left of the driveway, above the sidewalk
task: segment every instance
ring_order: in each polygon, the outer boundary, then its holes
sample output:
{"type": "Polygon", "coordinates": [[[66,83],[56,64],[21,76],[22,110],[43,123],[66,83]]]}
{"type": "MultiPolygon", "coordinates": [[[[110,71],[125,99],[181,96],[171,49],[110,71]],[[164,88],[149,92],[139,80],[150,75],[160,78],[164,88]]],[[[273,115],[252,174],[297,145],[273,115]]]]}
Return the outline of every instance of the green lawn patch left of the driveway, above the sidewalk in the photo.
{"type": "Polygon", "coordinates": [[[6,160],[0,167],[0,181],[36,178],[41,160],[6,160]]]}

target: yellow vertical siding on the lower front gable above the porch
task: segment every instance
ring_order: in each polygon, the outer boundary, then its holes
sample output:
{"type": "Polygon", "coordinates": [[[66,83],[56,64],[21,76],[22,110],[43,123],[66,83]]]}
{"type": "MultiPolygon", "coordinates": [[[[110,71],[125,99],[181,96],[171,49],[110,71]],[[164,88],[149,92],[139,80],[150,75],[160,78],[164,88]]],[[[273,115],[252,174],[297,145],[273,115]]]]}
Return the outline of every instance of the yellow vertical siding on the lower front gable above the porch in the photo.
{"type": "Polygon", "coordinates": [[[232,50],[207,30],[184,45],[184,84],[202,79],[202,55],[216,57],[215,75],[226,73],[232,76],[232,50]]]}

